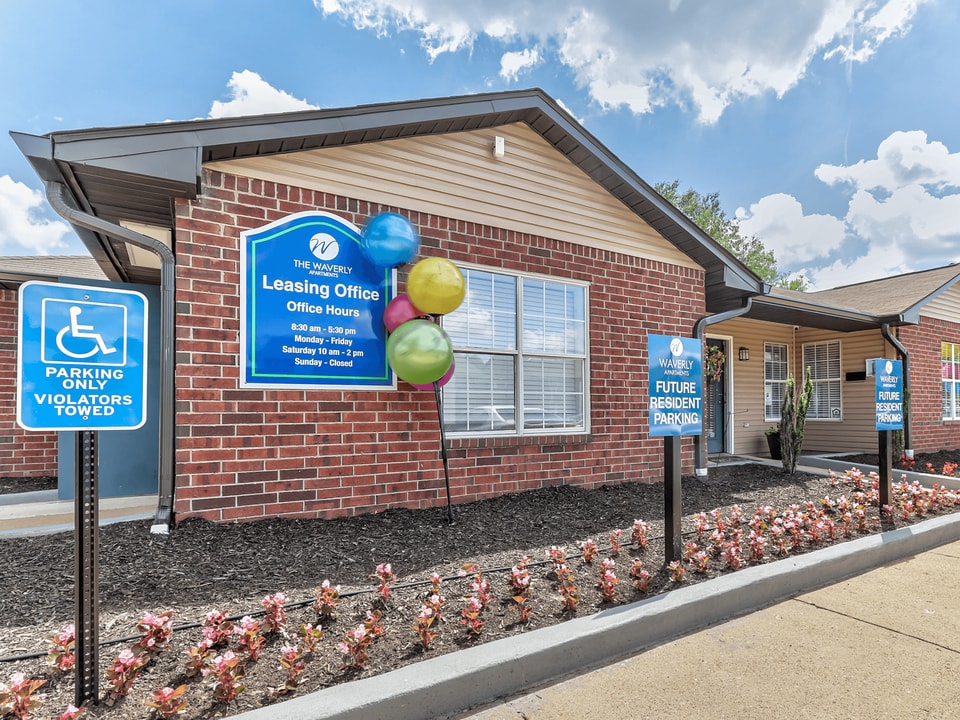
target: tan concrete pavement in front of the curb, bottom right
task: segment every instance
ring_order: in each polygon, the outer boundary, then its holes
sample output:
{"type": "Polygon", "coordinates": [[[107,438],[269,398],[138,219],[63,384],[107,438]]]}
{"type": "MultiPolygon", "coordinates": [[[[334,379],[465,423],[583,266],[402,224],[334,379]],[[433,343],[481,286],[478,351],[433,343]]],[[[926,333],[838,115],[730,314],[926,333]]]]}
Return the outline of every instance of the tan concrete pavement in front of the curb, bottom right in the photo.
{"type": "Polygon", "coordinates": [[[460,715],[958,718],[960,542],[460,715]]]}

